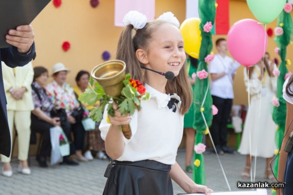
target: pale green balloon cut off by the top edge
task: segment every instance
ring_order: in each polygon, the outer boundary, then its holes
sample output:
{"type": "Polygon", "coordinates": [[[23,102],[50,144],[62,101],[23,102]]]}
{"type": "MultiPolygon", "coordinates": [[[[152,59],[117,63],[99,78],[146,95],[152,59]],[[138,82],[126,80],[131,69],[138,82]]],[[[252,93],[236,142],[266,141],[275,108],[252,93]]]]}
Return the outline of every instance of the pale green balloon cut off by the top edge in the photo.
{"type": "Polygon", "coordinates": [[[259,22],[274,21],[284,9],[287,0],[247,0],[252,14],[259,22]]]}

